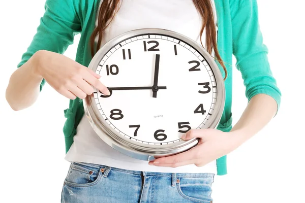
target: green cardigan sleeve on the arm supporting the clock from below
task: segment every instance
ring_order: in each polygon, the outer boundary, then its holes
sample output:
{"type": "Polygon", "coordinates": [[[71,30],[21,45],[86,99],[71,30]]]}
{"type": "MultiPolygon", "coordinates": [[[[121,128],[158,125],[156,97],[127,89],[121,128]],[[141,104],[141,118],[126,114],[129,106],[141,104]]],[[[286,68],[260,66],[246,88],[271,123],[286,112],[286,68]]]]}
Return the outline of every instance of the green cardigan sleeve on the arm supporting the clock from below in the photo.
{"type": "Polygon", "coordinates": [[[248,101],[256,94],[273,97],[278,110],[281,91],[273,77],[258,21],[256,0],[230,0],[233,54],[246,87],[248,101]]]}

